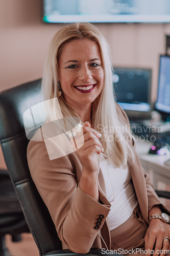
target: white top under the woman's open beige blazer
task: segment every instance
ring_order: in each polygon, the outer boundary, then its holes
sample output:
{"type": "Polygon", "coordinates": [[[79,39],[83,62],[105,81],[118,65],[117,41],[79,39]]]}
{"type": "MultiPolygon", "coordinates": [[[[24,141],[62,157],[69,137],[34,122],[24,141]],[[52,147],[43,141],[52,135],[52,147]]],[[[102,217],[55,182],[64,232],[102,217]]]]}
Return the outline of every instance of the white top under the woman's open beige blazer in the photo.
{"type": "Polygon", "coordinates": [[[128,167],[114,168],[106,160],[100,162],[100,167],[105,180],[106,196],[111,203],[108,219],[112,230],[129,219],[138,202],[128,167]]]}

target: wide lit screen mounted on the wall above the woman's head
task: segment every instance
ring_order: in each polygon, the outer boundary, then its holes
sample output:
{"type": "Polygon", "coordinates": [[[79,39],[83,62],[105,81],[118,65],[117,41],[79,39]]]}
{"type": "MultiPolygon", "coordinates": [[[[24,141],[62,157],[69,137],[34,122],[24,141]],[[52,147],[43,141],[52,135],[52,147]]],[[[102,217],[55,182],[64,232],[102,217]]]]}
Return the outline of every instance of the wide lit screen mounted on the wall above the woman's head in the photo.
{"type": "Polygon", "coordinates": [[[45,23],[169,23],[170,0],[43,0],[45,23]]]}

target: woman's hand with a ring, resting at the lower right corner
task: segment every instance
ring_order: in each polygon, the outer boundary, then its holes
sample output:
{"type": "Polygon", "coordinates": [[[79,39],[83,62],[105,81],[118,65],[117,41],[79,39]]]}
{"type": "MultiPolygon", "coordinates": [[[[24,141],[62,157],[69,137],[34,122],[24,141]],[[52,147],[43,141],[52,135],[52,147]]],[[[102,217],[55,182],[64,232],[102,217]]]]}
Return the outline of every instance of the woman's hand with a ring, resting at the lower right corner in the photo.
{"type": "Polygon", "coordinates": [[[163,241],[163,239],[169,237],[170,225],[162,222],[160,219],[152,219],[144,237],[145,250],[148,251],[145,255],[150,256],[154,247],[153,255],[160,254],[164,256],[169,254],[168,251],[166,253],[166,250],[170,250],[169,239],[168,241],[163,241]]]}

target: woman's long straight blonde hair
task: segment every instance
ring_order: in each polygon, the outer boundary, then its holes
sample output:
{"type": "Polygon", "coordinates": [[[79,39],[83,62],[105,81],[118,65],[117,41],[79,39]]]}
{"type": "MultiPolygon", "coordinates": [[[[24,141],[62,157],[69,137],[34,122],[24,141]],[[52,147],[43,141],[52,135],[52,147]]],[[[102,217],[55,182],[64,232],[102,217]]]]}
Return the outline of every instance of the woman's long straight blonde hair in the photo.
{"type": "MultiPolygon", "coordinates": [[[[47,59],[45,61],[44,72],[42,77],[42,91],[44,100],[53,99],[57,97],[59,88],[58,77],[58,59],[62,54],[63,46],[74,39],[87,38],[96,42],[100,48],[102,65],[104,69],[104,86],[101,94],[92,102],[91,109],[91,122],[93,129],[108,127],[107,138],[112,138],[111,141],[106,140],[106,132],[103,128],[101,143],[104,148],[102,157],[110,160],[115,167],[126,167],[127,163],[131,164],[134,161],[134,150],[131,142],[126,139],[129,136],[132,139],[130,131],[124,131],[124,125],[120,123],[116,113],[116,103],[114,99],[113,86],[112,86],[112,63],[111,52],[108,42],[100,31],[89,23],[70,24],[62,28],[56,33],[52,39],[47,59]],[[119,138],[118,140],[116,138],[119,138]]],[[[64,100],[63,95],[58,97],[61,112],[63,116],[79,117],[77,111],[72,108],[64,100]]],[[[56,112],[55,103],[51,105],[50,115],[55,116],[56,112]],[[53,113],[53,114],[52,114],[53,113]]]]}

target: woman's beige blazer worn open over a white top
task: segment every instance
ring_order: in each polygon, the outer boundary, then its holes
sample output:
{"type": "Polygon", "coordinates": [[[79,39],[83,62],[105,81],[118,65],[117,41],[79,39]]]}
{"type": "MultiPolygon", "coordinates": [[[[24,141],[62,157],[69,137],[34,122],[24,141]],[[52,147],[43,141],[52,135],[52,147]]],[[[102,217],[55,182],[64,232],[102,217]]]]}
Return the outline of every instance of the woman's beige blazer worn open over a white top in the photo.
{"type": "MultiPolygon", "coordinates": [[[[129,125],[126,113],[118,104],[116,108],[120,121],[129,125]]],[[[32,179],[51,214],[63,249],[87,253],[91,247],[105,248],[100,230],[107,247],[111,249],[107,218],[111,205],[101,191],[99,203],[80,189],[82,166],[77,155],[71,153],[50,160],[44,141],[30,141],[27,157],[32,179]],[[94,229],[100,215],[104,216],[100,228],[94,229]]],[[[144,174],[137,154],[134,164],[130,166],[130,173],[142,216],[148,222],[148,211],[161,202],[150,177],[144,174]]],[[[105,192],[101,169],[99,183],[105,192]]]]}

